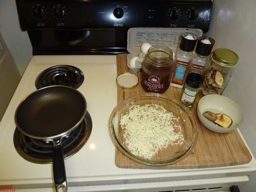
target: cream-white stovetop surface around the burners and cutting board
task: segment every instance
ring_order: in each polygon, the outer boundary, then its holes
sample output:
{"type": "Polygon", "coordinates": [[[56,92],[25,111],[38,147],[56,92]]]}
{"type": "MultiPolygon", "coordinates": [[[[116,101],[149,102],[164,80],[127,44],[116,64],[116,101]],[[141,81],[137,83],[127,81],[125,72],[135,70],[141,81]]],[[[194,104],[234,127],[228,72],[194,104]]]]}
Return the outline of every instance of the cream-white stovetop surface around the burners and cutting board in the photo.
{"type": "Polygon", "coordinates": [[[73,65],[82,70],[78,88],[87,100],[93,128],[87,143],[65,160],[69,186],[166,182],[248,176],[255,171],[255,159],[243,165],[196,169],[125,169],[115,165],[115,147],[108,122],[117,104],[116,56],[33,56],[0,122],[0,184],[16,188],[52,187],[52,164],[31,163],[21,157],[13,144],[14,114],[24,97],[35,91],[37,75],[52,66],[73,65]]]}

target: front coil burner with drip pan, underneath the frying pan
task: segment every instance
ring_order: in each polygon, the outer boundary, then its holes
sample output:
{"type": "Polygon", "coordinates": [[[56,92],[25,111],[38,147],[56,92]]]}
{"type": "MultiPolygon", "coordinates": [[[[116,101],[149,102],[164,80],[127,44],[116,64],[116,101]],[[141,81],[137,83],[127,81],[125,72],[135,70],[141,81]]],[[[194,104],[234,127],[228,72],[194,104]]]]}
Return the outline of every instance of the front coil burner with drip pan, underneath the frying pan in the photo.
{"type": "MultiPolygon", "coordinates": [[[[92,119],[86,113],[83,122],[61,141],[64,159],[74,155],[87,142],[92,132],[92,119]]],[[[53,143],[25,136],[18,129],[14,132],[14,146],[24,159],[33,163],[52,163],[53,143]]]]}

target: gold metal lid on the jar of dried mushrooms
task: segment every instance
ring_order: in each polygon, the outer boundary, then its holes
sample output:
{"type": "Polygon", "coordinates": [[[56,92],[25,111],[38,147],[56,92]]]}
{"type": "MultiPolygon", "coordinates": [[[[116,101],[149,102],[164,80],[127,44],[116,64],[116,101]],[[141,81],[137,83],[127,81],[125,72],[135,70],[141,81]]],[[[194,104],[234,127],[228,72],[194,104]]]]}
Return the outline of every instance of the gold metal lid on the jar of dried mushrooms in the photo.
{"type": "Polygon", "coordinates": [[[216,49],[212,53],[211,58],[226,67],[232,67],[237,65],[239,59],[238,55],[235,52],[225,48],[216,49]]]}

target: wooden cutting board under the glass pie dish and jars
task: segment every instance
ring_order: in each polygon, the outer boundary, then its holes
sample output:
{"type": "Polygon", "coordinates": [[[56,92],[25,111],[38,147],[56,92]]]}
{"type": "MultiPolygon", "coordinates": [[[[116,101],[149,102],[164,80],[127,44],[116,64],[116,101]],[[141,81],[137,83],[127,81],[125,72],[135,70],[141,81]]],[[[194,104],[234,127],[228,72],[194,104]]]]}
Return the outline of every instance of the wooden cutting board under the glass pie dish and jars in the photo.
{"type": "MultiPolygon", "coordinates": [[[[130,72],[126,65],[126,55],[117,55],[117,75],[130,72]]],[[[140,79],[140,73],[136,73],[140,79]]],[[[181,95],[181,89],[175,87],[169,87],[164,95],[179,99],[181,95]]],[[[134,89],[121,89],[118,87],[118,103],[122,100],[129,98],[133,95],[144,93],[140,83],[134,89]]],[[[120,168],[147,168],[147,169],[173,169],[173,168],[203,168],[203,167],[218,167],[228,165],[245,164],[251,160],[251,155],[245,146],[238,131],[233,131],[226,134],[218,134],[206,129],[197,118],[196,108],[197,103],[193,108],[193,114],[198,123],[199,135],[196,146],[191,153],[178,163],[154,167],[146,166],[131,160],[122,154],[117,148],[115,153],[115,163],[120,168]]]]}

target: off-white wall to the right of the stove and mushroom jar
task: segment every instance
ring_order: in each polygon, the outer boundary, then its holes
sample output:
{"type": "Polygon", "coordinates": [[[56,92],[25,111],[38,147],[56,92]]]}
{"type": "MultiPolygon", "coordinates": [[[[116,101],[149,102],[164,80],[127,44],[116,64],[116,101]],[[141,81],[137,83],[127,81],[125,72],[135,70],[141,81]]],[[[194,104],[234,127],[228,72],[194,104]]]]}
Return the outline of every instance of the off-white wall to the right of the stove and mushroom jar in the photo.
{"type": "MultiPolygon", "coordinates": [[[[239,55],[235,73],[223,95],[236,101],[244,112],[240,131],[256,157],[256,1],[215,0],[211,26],[206,34],[216,40],[214,49],[228,48],[239,55]]],[[[242,192],[256,191],[256,174],[242,192]]]]}

